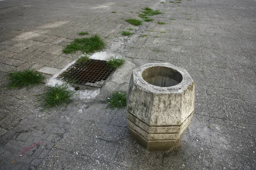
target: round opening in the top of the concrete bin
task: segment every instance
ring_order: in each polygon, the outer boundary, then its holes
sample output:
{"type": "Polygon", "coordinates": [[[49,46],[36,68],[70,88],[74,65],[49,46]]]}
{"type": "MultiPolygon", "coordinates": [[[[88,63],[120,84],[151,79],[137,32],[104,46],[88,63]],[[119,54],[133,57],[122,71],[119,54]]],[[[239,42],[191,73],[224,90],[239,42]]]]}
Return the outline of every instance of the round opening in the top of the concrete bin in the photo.
{"type": "Polygon", "coordinates": [[[170,87],[182,81],[182,75],[175,69],[162,66],[154,66],[142,72],[142,78],[151,85],[170,87]]]}

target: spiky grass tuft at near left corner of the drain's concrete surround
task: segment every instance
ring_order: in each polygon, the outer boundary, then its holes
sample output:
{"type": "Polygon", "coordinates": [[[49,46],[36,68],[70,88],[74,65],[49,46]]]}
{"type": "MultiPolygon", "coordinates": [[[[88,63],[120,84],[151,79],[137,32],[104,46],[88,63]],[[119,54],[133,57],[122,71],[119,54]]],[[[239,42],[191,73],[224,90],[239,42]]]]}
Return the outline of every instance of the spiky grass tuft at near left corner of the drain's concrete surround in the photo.
{"type": "Polygon", "coordinates": [[[40,107],[50,108],[61,104],[68,104],[75,92],[68,90],[67,85],[58,85],[48,87],[48,91],[44,94],[36,95],[37,102],[40,107]]]}

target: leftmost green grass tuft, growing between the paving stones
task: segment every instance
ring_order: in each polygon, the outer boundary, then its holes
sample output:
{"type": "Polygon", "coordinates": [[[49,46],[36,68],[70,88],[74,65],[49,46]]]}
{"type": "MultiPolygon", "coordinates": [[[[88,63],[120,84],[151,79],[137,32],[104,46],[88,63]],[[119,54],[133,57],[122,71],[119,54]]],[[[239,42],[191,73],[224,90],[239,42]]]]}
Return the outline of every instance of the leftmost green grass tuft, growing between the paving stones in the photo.
{"type": "Polygon", "coordinates": [[[32,70],[25,69],[24,71],[15,71],[7,74],[9,77],[9,88],[23,88],[29,85],[39,84],[45,79],[43,74],[32,70]]]}

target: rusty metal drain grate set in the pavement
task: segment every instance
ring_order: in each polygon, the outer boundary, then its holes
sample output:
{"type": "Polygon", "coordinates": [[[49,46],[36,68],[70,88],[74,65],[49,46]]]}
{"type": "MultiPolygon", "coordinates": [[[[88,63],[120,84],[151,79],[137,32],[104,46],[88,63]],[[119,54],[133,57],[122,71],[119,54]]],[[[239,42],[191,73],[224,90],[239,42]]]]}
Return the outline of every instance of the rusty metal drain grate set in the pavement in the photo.
{"type": "Polygon", "coordinates": [[[59,77],[76,84],[101,88],[113,71],[107,61],[90,59],[89,62],[71,65],[59,77]]]}

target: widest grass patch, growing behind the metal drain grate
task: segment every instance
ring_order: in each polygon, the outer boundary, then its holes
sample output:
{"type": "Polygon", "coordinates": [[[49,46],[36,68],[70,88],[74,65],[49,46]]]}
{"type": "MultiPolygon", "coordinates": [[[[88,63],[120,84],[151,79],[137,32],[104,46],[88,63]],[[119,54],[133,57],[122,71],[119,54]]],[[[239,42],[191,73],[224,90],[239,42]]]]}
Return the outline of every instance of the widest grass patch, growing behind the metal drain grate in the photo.
{"type": "Polygon", "coordinates": [[[101,51],[105,48],[105,43],[96,34],[90,38],[77,38],[70,45],[67,45],[62,51],[64,53],[74,53],[76,51],[82,51],[83,53],[93,53],[95,51],[101,51]]]}

